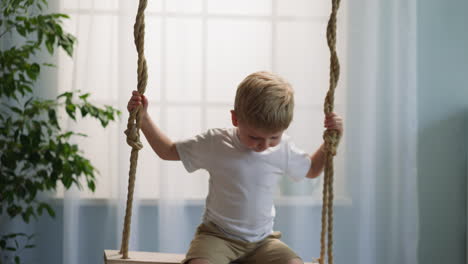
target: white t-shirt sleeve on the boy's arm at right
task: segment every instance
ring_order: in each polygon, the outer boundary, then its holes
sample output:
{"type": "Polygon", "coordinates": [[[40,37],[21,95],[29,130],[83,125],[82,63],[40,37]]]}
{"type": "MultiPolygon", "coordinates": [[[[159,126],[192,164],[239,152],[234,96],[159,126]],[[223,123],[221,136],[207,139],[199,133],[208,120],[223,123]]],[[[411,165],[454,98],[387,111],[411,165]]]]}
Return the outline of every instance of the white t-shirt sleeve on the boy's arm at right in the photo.
{"type": "Polygon", "coordinates": [[[294,181],[300,181],[307,176],[312,161],[310,155],[299,149],[293,142],[287,142],[286,175],[294,181]]]}

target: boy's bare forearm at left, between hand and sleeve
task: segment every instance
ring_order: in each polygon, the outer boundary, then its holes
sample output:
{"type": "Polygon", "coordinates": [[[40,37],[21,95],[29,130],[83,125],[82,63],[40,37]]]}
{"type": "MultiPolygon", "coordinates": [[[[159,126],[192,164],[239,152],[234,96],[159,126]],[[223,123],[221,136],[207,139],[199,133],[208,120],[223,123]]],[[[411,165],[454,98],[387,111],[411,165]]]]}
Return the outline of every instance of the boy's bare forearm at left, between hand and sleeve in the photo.
{"type": "Polygon", "coordinates": [[[161,159],[180,160],[175,143],[156,126],[148,114],[142,117],[141,131],[161,159]]]}

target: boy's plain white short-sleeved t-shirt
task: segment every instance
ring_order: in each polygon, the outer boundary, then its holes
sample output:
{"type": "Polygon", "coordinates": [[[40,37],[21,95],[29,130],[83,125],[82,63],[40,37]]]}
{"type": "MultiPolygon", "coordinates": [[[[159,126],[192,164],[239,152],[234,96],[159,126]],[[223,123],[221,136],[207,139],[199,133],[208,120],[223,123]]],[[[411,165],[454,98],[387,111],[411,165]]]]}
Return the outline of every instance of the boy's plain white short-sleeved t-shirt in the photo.
{"type": "Polygon", "coordinates": [[[188,172],[205,169],[210,174],[203,221],[249,242],[273,232],[279,177],[301,180],[311,165],[309,155],[287,135],[277,146],[255,152],[240,142],[236,128],[210,129],[176,142],[176,147],[188,172]]]}

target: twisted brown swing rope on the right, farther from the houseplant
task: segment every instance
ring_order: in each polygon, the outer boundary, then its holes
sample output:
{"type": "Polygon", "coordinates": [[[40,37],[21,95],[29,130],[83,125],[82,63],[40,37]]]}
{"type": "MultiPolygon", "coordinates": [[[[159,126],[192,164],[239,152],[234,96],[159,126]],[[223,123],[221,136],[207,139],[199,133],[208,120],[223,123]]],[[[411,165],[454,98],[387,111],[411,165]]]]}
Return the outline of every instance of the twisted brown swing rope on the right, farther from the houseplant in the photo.
{"type": "MultiPolygon", "coordinates": [[[[330,86],[325,98],[324,112],[329,115],[333,112],[335,89],[340,77],[340,63],[336,53],[336,15],[340,0],[332,0],[332,12],[327,26],[327,42],[330,49],[330,86]]],[[[325,176],[323,181],[323,205],[322,205],[322,232],[320,235],[320,264],[325,263],[325,243],[328,240],[328,263],[333,264],[333,156],[340,141],[340,135],[336,130],[326,130],[323,134],[325,141],[325,176]],[[325,238],[325,236],[327,238],[325,238]]]]}

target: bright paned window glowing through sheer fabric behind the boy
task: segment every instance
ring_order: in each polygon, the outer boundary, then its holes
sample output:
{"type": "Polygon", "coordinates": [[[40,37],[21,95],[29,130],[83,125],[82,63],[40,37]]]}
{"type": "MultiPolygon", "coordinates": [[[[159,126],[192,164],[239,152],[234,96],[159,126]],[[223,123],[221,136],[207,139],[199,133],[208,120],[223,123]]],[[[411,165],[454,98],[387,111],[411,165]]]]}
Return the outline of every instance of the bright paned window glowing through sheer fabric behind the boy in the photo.
{"type": "MultiPolygon", "coordinates": [[[[96,103],[126,112],[130,93],[136,89],[133,2],[63,1],[62,11],[71,15],[66,27],[79,43],[74,61],[60,56],[59,87],[68,89],[72,84],[74,89],[91,92],[96,103]]],[[[330,1],[310,0],[148,1],[146,95],[153,120],[174,140],[211,127],[230,127],[229,110],[239,82],[249,73],[269,70],[287,79],[296,91],[295,120],[287,133],[301,148],[314,151],[322,142],[323,100],[328,89],[325,30],[330,8],[330,1]]],[[[342,10],[338,44],[341,64],[345,65],[346,7],[342,10]]],[[[336,95],[336,108],[343,116],[345,80],[342,74],[336,95]]],[[[100,171],[97,191],[87,197],[115,197],[122,190],[119,186],[126,183],[130,147],[122,133],[125,114],[121,124],[105,131],[87,121],[69,122],[92,135],[79,139],[100,171]]],[[[206,172],[188,174],[180,162],[161,162],[143,135],[142,141],[145,147],[139,157],[137,196],[206,196],[206,172]]],[[[344,194],[341,156],[336,167],[335,189],[344,194]]],[[[306,184],[288,180],[280,185],[279,197],[321,196],[321,179],[306,184]]]]}

